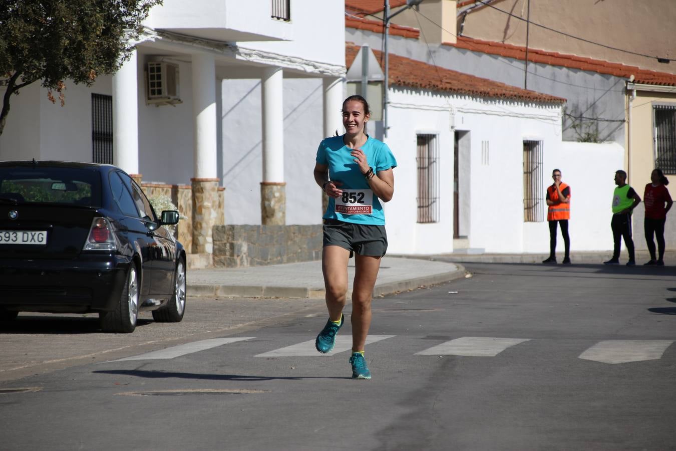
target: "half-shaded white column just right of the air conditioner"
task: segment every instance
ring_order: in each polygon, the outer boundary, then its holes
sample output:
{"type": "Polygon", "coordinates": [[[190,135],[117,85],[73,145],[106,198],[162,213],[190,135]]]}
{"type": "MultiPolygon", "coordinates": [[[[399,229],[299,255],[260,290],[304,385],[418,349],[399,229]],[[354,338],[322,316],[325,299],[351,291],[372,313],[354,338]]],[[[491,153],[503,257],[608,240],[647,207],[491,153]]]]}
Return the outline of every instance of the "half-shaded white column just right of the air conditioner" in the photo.
{"type": "Polygon", "coordinates": [[[212,55],[193,55],[195,178],[216,179],[216,62],[212,55]]]}

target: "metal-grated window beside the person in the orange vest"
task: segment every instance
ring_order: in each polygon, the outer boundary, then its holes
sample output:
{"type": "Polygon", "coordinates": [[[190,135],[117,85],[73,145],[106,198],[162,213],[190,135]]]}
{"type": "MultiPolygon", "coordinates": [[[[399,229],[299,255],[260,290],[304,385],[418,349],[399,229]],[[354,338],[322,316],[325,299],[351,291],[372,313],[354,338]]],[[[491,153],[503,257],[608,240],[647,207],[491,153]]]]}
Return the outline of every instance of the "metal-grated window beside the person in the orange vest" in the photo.
{"type": "Polygon", "coordinates": [[[523,220],[545,220],[541,141],[523,141],[523,220]]]}

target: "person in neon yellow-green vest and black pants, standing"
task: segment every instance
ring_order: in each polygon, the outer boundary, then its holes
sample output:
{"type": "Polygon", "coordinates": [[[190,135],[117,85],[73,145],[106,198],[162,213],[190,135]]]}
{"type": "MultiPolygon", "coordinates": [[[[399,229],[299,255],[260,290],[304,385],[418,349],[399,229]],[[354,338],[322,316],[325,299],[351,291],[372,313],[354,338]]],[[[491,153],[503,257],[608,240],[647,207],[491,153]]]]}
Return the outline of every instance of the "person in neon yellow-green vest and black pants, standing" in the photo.
{"type": "Polygon", "coordinates": [[[612,220],[610,221],[614,247],[612,258],[604,264],[619,264],[620,239],[624,238],[629,253],[627,266],[633,266],[636,261],[634,260],[634,247],[631,239],[631,212],[641,202],[641,197],[632,187],[627,185],[627,172],[623,170],[615,172],[615,185],[617,185],[617,188],[612,194],[612,220]]]}

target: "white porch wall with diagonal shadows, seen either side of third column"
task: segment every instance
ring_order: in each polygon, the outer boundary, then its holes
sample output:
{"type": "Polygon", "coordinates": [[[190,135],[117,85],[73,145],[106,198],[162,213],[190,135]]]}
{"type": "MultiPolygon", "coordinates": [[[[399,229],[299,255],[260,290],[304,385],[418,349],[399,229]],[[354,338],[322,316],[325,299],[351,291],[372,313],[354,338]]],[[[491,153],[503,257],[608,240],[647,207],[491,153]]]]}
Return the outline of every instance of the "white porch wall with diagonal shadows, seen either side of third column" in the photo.
{"type": "MultiPolygon", "coordinates": [[[[322,80],[284,80],[284,179],[287,224],[321,222],[314,158],[322,135],[322,80]]],[[[223,186],[228,224],[260,224],[262,120],[260,80],[222,81],[223,186]]],[[[337,112],[336,114],[340,114],[337,112]]]]}

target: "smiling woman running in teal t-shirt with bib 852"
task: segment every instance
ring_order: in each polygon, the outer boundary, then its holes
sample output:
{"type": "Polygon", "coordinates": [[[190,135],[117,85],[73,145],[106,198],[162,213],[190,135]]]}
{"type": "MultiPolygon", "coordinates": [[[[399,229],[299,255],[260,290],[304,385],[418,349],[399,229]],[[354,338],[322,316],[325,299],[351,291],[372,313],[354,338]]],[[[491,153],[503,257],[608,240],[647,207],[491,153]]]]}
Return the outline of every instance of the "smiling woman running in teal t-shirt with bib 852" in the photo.
{"type": "Polygon", "coordinates": [[[354,255],[352,286],[352,379],[370,379],[364,358],[371,323],[373,287],[387,251],[381,201],[392,199],[397,161],[389,147],[366,135],[368,103],[360,95],[343,101],[345,135],[324,139],[317,149],[314,180],[329,196],[324,213],[322,272],[329,321],[317,335],[319,352],[335,346],[345,323],[347,262],[354,255]]]}

